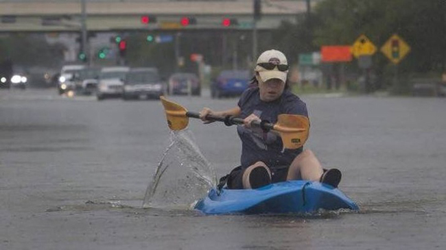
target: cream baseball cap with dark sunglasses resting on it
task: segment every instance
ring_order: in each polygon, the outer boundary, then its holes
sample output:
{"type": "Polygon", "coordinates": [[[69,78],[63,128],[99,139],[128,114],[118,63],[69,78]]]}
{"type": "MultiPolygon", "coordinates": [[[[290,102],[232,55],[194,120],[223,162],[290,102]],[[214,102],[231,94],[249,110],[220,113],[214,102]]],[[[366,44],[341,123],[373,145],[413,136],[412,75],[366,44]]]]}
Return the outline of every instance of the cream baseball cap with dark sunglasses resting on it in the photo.
{"type": "Polygon", "coordinates": [[[281,51],[270,49],[261,53],[261,55],[257,59],[257,64],[254,70],[259,72],[260,78],[263,82],[274,78],[281,79],[283,82],[286,82],[288,73],[287,58],[281,51]],[[263,66],[261,66],[261,64],[263,64],[263,66]],[[264,66],[269,67],[265,68],[264,66]],[[285,68],[286,70],[283,70],[285,68]]]}

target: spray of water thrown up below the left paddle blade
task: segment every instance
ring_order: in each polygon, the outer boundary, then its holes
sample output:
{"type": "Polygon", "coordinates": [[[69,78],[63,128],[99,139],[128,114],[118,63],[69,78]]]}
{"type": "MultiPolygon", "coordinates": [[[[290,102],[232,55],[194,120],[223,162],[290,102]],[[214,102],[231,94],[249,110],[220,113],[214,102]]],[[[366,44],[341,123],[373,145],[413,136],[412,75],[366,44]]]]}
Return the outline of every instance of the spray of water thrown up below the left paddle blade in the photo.
{"type": "Polygon", "coordinates": [[[216,184],[213,167],[188,129],[172,131],[170,140],[145,191],[143,208],[187,209],[216,184]]]}

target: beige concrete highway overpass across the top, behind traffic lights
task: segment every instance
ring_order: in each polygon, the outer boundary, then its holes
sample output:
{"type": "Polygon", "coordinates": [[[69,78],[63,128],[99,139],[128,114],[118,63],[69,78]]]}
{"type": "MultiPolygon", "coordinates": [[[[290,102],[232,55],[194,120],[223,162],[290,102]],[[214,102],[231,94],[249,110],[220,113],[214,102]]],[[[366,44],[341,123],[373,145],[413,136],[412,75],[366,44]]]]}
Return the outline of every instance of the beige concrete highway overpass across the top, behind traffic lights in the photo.
{"type": "MultiPolygon", "coordinates": [[[[79,32],[82,0],[0,0],[0,32],[79,32]]],[[[315,5],[318,0],[312,0],[315,5]]],[[[261,0],[258,29],[275,29],[282,21],[296,23],[307,11],[305,0],[261,0]]],[[[86,0],[86,28],[91,32],[131,30],[252,29],[253,0],[86,0]],[[155,23],[141,23],[141,16],[155,23]],[[196,24],[184,27],[183,17],[196,24]],[[224,18],[237,25],[224,27],[224,18]]]]}

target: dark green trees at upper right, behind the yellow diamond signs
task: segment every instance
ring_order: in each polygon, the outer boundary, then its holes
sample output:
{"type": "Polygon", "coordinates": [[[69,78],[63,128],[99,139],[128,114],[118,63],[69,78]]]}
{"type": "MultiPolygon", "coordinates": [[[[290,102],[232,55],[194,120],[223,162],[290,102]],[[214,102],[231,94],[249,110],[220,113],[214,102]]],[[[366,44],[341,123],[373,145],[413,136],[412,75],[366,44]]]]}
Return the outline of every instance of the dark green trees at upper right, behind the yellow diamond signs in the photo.
{"type": "MultiPolygon", "coordinates": [[[[281,37],[274,42],[287,46],[283,51],[296,57],[322,45],[352,45],[364,34],[378,49],[373,56],[377,87],[403,94],[411,88],[408,77],[413,73],[446,71],[445,13],[445,0],[327,0],[316,5],[311,19],[304,17],[298,25],[284,23],[273,36],[281,37]],[[379,51],[392,34],[398,34],[411,48],[397,65],[398,77],[395,65],[379,51]]],[[[351,69],[361,73],[354,64],[351,69]]],[[[349,90],[357,89],[356,85],[351,80],[349,90]]]]}

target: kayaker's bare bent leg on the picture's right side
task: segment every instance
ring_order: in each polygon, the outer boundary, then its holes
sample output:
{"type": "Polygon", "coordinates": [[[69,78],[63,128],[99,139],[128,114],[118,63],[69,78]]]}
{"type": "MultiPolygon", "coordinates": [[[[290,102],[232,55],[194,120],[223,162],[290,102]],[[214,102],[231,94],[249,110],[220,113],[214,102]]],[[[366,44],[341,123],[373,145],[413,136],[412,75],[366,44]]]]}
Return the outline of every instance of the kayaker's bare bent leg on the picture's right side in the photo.
{"type": "Polygon", "coordinates": [[[320,165],[318,158],[309,149],[305,149],[294,158],[288,169],[287,180],[298,179],[299,173],[302,179],[310,181],[319,181],[323,173],[322,165],[320,165]]]}

